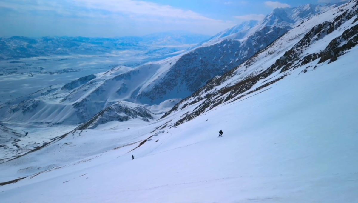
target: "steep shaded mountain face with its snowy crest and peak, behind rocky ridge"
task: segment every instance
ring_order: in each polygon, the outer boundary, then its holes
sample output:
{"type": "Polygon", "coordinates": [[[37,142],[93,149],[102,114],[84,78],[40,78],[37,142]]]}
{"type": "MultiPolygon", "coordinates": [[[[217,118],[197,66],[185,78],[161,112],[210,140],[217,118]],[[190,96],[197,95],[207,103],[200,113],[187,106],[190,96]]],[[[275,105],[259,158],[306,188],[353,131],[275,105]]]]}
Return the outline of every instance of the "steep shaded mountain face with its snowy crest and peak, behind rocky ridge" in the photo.
{"type": "Polygon", "coordinates": [[[170,98],[185,98],[209,79],[240,65],[266,48],[299,21],[311,18],[337,5],[307,5],[275,9],[261,22],[249,21],[217,34],[199,47],[176,56],[141,88],[137,100],[159,104],[170,98]]]}

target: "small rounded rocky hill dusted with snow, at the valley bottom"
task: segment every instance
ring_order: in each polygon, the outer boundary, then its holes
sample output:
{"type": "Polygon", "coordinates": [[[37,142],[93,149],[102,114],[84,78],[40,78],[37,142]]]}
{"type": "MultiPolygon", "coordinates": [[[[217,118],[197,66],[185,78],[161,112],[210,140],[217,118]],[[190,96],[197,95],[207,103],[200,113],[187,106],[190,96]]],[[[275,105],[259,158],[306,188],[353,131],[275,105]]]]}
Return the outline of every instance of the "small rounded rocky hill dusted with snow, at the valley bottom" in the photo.
{"type": "Polygon", "coordinates": [[[145,107],[131,102],[119,101],[105,110],[97,113],[93,118],[79,126],[78,130],[94,129],[98,125],[106,124],[110,121],[128,121],[130,119],[141,119],[149,122],[155,115],[145,107]]]}

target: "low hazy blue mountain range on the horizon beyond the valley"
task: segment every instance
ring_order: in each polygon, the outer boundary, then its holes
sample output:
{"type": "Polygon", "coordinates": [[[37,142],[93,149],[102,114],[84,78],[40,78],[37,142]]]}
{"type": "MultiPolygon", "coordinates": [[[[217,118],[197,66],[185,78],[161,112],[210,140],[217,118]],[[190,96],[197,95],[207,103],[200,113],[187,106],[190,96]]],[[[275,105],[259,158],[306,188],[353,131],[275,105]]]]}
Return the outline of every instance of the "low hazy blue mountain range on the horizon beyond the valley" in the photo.
{"type": "MultiPolygon", "coordinates": [[[[164,49],[164,46],[187,46],[206,40],[209,36],[188,32],[166,32],[141,37],[88,38],[88,37],[9,37],[0,38],[0,59],[18,59],[48,55],[103,54],[116,50],[164,49]]],[[[175,47],[167,48],[173,52],[175,47]]]]}

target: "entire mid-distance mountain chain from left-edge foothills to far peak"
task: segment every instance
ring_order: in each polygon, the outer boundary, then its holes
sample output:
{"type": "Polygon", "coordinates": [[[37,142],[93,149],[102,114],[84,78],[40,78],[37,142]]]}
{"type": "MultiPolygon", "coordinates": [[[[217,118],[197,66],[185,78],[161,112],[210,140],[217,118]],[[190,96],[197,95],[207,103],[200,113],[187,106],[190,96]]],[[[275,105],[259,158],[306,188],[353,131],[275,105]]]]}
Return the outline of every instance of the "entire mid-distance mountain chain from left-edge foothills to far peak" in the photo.
{"type": "Polygon", "coordinates": [[[275,9],[261,22],[225,30],[197,48],[137,68],[116,67],[62,87],[52,86],[1,105],[5,118],[37,123],[80,124],[118,101],[159,105],[185,98],[211,78],[240,65],[304,18],[336,5],[275,9]]]}

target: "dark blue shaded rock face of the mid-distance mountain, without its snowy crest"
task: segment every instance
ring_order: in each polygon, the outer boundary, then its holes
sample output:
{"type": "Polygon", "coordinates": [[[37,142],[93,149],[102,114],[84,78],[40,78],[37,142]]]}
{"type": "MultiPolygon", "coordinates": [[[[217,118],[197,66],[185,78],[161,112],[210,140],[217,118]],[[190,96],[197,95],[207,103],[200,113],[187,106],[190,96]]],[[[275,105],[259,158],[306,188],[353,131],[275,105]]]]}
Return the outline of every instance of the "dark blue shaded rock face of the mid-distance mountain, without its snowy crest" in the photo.
{"type": "Polygon", "coordinates": [[[172,98],[174,93],[179,98],[187,97],[211,78],[224,74],[267,47],[289,29],[289,26],[265,26],[244,43],[226,39],[184,54],[166,73],[165,78],[161,78],[150,91],[139,95],[138,99],[142,101],[142,98],[149,98],[153,103],[160,103],[172,98]]]}

